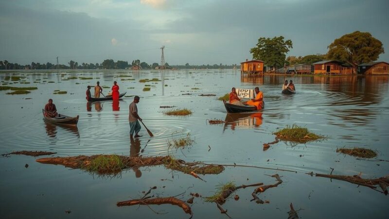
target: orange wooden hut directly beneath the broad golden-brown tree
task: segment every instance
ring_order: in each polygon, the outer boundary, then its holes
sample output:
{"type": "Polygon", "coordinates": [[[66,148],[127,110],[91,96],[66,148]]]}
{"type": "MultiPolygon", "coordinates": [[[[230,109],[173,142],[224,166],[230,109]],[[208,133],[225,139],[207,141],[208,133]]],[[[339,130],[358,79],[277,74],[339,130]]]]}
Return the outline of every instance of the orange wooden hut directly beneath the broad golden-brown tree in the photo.
{"type": "Polygon", "coordinates": [[[353,68],[336,60],[325,60],[313,63],[315,74],[352,74],[353,68]]]}

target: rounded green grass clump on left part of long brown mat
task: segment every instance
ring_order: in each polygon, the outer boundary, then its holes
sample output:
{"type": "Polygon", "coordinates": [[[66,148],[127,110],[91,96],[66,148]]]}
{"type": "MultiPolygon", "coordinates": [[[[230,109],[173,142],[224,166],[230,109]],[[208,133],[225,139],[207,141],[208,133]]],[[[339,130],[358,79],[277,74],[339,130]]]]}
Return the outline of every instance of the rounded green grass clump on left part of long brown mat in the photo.
{"type": "Polygon", "coordinates": [[[86,163],[82,169],[97,174],[118,173],[125,168],[123,160],[118,155],[99,155],[86,163]]]}

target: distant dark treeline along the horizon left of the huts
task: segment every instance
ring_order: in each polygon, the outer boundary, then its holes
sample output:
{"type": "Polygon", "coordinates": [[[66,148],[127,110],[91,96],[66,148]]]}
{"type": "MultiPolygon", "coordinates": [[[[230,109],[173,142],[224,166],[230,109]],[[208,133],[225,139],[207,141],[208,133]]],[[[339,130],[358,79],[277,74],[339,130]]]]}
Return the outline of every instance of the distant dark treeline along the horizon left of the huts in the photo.
{"type": "MultiPolygon", "coordinates": [[[[69,65],[56,64],[47,62],[46,64],[41,64],[39,62],[32,62],[27,65],[20,65],[18,63],[11,63],[7,60],[0,61],[0,70],[18,70],[18,69],[28,69],[28,70],[45,70],[45,69],[129,69],[134,66],[139,66],[140,69],[156,69],[159,67],[159,64],[154,62],[153,64],[148,64],[146,62],[141,62],[139,59],[133,60],[131,64],[127,61],[114,61],[113,59],[106,59],[102,63],[78,63],[76,61],[70,60],[69,65]]],[[[167,69],[232,69],[236,67],[236,64],[232,65],[223,65],[222,63],[214,65],[172,65],[165,63],[167,69]]]]}

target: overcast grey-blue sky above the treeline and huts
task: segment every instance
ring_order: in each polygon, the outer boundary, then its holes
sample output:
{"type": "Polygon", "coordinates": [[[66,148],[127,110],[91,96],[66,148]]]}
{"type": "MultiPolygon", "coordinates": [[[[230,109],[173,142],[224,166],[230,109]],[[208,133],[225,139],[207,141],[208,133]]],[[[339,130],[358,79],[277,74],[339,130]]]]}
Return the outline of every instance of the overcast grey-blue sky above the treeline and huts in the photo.
{"type": "Polygon", "coordinates": [[[291,39],[287,55],[327,53],[354,31],[381,40],[389,0],[0,0],[0,60],[235,64],[259,37],[291,39]]]}

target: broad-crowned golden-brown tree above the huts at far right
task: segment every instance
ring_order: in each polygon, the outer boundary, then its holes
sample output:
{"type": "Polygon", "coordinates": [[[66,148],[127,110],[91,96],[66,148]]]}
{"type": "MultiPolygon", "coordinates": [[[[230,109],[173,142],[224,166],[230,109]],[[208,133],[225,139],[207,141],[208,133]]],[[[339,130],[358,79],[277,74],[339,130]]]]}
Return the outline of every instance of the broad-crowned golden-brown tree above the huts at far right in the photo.
{"type": "Polygon", "coordinates": [[[369,32],[359,31],[335,39],[328,49],[328,58],[346,62],[353,66],[354,71],[358,65],[375,61],[384,53],[380,40],[372,37],[369,32]]]}

